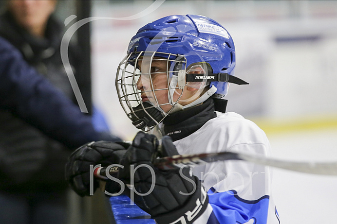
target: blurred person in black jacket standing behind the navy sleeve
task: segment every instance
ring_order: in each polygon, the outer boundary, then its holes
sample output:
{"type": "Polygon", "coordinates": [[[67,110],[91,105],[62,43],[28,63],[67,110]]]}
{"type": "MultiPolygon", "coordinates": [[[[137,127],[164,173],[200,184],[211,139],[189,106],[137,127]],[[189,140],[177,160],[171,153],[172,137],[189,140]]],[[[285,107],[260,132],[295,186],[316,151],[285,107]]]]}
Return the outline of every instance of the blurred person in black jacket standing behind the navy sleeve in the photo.
{"type": "MultiPolygon", "coordinates": [[[[6,1],[0,15],[0,36],[76,103],[60,57],[63,29],[53,15],[56,3],[56,0],[6,1]]],[[[69,46],[69,60],[75,77],[80,75],[79,55],[75,45],[69,46]]],[[[1,63],[4,58],[1,57],[1,63]]],[[[33,94],[32,97],[36,96],[33,94]]],[[[109,132],[104,117],[103,121],[94,119],[102,119],[100,115],[99,112],[98,116],[93,115],[94,128],[109,132]]],[[[0,123],[1,157],[7,161],[5,170],[11,171],[10,175],[0,172],[0,223],[64,224],[68,189],[64,166],[74,148],[50,138],[11,110],[0,108],[0,123]],[[18,167],[20,169],[15,169],[18,167]]],[[[1,166],[3,168],[4,163],[1,166]]]]}

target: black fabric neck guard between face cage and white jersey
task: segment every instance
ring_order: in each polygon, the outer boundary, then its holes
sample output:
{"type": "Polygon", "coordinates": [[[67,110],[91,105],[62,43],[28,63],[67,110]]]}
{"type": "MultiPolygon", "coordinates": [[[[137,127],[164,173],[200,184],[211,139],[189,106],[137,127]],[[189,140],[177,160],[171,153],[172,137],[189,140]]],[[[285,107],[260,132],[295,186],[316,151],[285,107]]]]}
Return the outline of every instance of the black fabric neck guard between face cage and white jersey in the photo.
{"type": "MultiPolygon", "coordinates": [[[[217,103],[218,101],[219,99],[217,103]]],[[[227,101],[222,101],[226,105],[227,101]]],[[[207,121],[216,117],[214,106],[214,99],[209,98],[203,104],[169,115],[163,121],[166,135],[176,141],[196,132],[207,121]]],[[[221,112],[225,112],[224,108],[221,112]]]]}

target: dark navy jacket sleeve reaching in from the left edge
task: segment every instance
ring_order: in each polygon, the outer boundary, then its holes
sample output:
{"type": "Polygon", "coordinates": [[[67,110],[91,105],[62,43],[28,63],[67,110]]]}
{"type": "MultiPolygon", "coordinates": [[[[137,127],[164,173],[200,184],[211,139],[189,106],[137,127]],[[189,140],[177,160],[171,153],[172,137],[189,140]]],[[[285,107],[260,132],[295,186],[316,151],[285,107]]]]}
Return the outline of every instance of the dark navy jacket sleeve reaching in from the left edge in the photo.
{"type": "MultiPolygon", "coordinates": [[[[119,140],[94,130],[60,90],[28,66],[20,52],[0,37],[0,109],[6,109],[69,147],[89,141],[119,140]]],[[[1,125],[1,124],[0,124],[1,125]]]]}

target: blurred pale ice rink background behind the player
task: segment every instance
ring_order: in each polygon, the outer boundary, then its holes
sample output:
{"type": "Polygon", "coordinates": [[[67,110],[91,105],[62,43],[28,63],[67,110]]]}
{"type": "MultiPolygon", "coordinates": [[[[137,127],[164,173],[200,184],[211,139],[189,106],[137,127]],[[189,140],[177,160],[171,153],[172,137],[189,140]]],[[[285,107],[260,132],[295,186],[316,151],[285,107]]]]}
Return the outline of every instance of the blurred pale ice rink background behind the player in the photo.
{"type": "MultiPolygon", "coordinates": [[[[110,17],[91,22],[91,69],[92,99],[106,114],[112,132],[128,140],[137,133],[114,85],[131,37],[160,17],[199,14],[215,19],[232,35],[236,75],[250,83],[230,86],[227,111],[256,122],[270,140],[273,157],[337,160],[337,1],[100,0],[91,4],[92,17],[110,17]],[[135,15],[138,18],[132,19],[135,15]]],[[[75,13],[75,1],[59,1],[60,19],[75,13]]],[[[272,188],[281,223],[334,222],[336,176],[273,169],[272,188]]],[[[106,222],[96,206],[100,198],[69,195],[70,223],[106,222]]]]}

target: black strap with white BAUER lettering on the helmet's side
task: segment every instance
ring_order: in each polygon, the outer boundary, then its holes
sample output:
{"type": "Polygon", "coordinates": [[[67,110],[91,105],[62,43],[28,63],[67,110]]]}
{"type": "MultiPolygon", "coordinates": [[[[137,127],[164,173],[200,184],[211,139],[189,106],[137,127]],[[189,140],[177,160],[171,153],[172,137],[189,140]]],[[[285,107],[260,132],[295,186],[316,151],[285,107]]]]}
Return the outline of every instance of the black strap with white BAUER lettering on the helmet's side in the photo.
{"type": "Polygon", "coordinates": [[[237,85],[248,85],[249,83],[228,73],[210,73],[210,74],[186,74],[187,82],[227,82],[237,85]]]}

